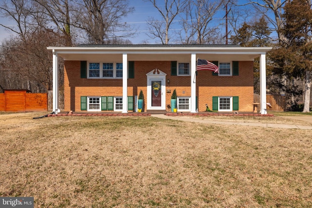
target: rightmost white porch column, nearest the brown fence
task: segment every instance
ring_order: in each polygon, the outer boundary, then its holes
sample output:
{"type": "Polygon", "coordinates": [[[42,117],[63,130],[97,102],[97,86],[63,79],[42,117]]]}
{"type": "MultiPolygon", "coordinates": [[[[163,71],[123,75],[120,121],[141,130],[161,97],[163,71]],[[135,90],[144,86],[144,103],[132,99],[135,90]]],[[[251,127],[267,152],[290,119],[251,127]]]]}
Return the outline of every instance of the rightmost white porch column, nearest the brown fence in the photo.
{"type": "Polygon", "coordinates": [[[260,55],[260,113],[267,114],[267,81],[265,54],[260,55]]]}

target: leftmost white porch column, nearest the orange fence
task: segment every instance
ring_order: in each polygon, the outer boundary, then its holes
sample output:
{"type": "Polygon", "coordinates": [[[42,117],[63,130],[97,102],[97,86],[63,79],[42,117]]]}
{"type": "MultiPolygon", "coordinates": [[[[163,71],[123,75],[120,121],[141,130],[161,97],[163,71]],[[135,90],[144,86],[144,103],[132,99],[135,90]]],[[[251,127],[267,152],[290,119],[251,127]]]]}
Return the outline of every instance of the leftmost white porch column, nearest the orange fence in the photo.
{"type": "Polygon", "coordinates": [[[59,109],[59,60],[58,54],[53,50],[53,111],[58,114],[59,109]]]}

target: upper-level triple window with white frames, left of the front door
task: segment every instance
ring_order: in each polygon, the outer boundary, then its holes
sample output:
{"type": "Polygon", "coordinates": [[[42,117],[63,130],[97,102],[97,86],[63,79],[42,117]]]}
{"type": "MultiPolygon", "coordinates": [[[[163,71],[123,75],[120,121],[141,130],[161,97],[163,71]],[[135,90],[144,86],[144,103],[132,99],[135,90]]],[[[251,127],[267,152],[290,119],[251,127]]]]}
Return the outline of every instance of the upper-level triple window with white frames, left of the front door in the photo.
{"type": "Polygon", "coordinates": [[[122,63],[88,62],[88,78],[122,78],[122,63]]]}

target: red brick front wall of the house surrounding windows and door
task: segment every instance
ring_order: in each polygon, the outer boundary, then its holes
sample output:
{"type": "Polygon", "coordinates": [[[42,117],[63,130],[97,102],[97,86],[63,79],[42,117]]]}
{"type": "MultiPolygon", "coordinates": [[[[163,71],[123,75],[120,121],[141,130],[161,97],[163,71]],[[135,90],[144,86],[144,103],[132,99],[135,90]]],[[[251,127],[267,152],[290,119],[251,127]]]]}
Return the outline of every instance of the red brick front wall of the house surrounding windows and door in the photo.
{"type": "MultiPolygon", "coordinates": [[[[171,61],[135,61],[135,78],[128,79],[128,96],[138,95],[142,90],[146,109],[146,74],[155,68],[166,73],[166,80],[170,80],[166,83],[166,90],[171,90],[166,93],[166,106],[170,105],[174,89],[177,96],[191,96],[191,77],[171,76],[171,61]]],[[[80,78],[80,61],[65,61],[64,76],[65,111],[80,111],[80,96],[122,96],[122,79],[80,78]]],[[[213,96],[239,96],[239,111],[252,112],[253,76],[253,61],[239,61],[239,76],[213,76],[210,71],[199,71],[196,76],[198,110],[205,111],[205,104],[212,109],[213,96]]]]}

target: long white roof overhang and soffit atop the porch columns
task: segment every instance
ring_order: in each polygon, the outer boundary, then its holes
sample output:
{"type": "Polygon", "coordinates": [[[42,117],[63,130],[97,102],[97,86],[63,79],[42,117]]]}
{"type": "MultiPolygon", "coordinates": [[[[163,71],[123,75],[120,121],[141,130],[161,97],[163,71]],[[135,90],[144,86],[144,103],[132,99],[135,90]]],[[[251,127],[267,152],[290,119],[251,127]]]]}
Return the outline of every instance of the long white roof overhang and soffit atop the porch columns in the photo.
{"type": "Polygon", "coordinates": [[[254,60],[266,54],[272,47],[196,47],[196,46],[96,46],[96,47],[47,47],[64,60],[111,60],[121,61],[122,54],[127,54],[128,60],[190,60],[191,54],[207,60],[254,60]]]}

